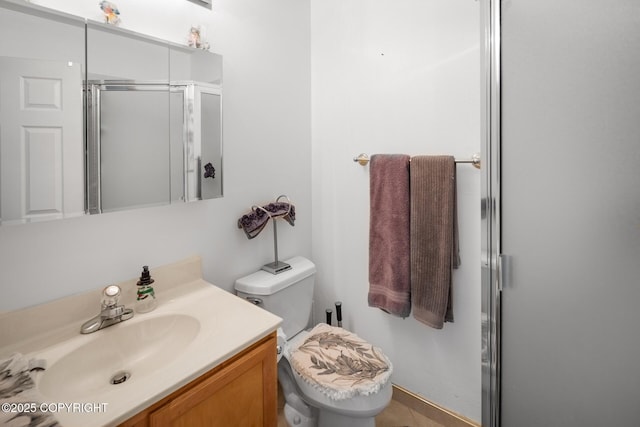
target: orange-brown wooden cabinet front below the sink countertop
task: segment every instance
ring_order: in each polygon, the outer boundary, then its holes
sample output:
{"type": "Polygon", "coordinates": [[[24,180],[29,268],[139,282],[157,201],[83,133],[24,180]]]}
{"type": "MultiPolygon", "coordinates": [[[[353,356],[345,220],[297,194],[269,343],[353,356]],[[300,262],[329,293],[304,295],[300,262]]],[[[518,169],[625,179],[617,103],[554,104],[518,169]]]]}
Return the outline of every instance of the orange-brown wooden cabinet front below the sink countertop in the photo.
{"type": "Polygon", "coordinates": [[[150,427],[277,425],[276,343],[272,335],[149,416],[150,427]]]}

